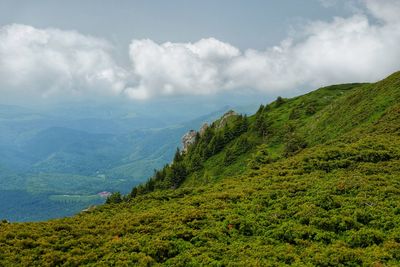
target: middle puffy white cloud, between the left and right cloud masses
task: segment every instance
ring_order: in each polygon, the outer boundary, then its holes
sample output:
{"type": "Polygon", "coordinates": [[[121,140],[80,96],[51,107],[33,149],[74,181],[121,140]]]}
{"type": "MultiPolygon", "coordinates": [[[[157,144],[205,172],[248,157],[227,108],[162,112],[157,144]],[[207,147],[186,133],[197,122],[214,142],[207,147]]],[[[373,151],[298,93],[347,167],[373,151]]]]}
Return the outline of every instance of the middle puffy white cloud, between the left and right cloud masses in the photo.
{"type": "Polygon", "coordinates": [[[133,98],[213,93],[225,86],[222,70],[240,54],[237,48],[213,38],[161,45],[134,40],[129,52],[139,82],[127,90],[133,98]]]}

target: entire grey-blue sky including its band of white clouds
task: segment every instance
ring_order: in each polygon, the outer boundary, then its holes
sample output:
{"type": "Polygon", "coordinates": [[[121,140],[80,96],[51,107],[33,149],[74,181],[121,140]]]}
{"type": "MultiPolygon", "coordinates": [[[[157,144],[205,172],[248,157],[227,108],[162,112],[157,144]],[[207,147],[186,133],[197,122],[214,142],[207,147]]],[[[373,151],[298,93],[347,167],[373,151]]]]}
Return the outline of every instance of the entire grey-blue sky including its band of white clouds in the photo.
{"type": "Polygon", "coordinates": [[[400,70],[400,0],[0,0],[1,100],[295,95],[400,70]]]}

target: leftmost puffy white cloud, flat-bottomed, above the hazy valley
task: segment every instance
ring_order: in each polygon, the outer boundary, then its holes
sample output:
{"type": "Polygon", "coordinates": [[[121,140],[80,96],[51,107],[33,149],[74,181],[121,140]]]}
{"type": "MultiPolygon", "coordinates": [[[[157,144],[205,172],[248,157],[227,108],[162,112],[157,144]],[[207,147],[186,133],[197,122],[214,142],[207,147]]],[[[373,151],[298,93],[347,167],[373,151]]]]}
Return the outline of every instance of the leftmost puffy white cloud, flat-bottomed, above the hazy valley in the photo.
{"type": "Polygon", "coordinates": [[[103,40],[27,25],[0,28],[0,90],[40,97],[119,93],[126,71],[103,40]]]}

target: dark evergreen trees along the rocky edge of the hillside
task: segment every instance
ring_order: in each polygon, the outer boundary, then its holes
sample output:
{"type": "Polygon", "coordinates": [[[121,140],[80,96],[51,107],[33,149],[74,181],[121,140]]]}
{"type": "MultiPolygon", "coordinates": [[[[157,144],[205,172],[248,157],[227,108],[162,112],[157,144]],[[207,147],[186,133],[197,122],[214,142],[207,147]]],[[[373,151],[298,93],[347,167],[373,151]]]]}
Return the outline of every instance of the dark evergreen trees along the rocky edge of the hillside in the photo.
{"type": "MultiPolygon", "coordinates": [[[[227,121],[222,119],[215,121],[201,135],[199,132],[196,133],[194,143],[186,152],[177,148],[172,163],[166,164],[160,170],[154,170],[153,176],[147,182],[134,187],[128,196],[121,197],[121,201],[128,201],[155,190],[176,189],[189,176],[203,170],[205,162],[211,157],[224,152],[221,167],[229,166],[241,155],[264,144],[265,159],[256,155],[256,159],[249,162],[251,169],[257,169],[256,166],[262,162],[272,161],[265,143],[274,135],[283,136],[282,156],[288,157],[302,150],[307,144],[296,132],[294,124],[285,124],[280,131],[273,127],[275,118],[271,114],[278,108],[284,108],[285,103],[285,99],[278,97],[269,105],[260,105],[251,118],[247,115],[233,115],[227,121]]],[[[107,200],[107,203],[120,201],[113,195],[110,198],[112,199],[107,200]]]]}

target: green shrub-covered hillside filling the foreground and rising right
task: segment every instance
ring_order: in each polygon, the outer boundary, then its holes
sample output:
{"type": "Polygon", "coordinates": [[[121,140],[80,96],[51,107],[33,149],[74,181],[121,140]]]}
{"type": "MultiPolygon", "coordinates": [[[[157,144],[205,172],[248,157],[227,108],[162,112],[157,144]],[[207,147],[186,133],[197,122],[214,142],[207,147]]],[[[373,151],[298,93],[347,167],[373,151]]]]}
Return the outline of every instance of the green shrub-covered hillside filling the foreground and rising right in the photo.
{"type": "Polygon", "coordinates": [[[109,202],[3,222],[0,265],[398,266],[400,73],[216,121],[109,202]]]}

